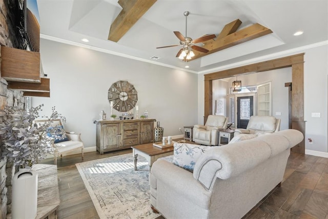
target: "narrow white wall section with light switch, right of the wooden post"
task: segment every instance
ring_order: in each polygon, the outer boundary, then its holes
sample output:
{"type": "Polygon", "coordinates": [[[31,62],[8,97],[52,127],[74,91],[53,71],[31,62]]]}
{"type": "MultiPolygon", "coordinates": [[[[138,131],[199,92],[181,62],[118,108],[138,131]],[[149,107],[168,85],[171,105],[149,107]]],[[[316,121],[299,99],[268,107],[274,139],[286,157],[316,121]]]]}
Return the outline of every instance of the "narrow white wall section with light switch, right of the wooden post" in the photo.
{"type": "Polygon", "coordinates": [[[308,150],[328,152],[328,46],[305,50],[304,61],[305,146],[308,150]],[[321,113],[321,117],[311,117],[313,112],[321,113]],[[308,138],[312,138],[313,144],[309,144],[308,138]]]}

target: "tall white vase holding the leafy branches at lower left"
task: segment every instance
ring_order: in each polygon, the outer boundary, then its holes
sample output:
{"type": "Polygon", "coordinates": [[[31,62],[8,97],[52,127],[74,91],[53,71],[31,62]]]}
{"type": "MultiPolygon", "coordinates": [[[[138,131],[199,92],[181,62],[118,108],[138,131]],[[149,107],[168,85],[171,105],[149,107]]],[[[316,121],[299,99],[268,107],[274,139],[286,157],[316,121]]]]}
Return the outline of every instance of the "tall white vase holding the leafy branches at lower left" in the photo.
{"type": "Polygon", "coordinates": [[[35,218],[37,212],[37,172],[20,168],[12,182],[12,219],[35,218]]]}

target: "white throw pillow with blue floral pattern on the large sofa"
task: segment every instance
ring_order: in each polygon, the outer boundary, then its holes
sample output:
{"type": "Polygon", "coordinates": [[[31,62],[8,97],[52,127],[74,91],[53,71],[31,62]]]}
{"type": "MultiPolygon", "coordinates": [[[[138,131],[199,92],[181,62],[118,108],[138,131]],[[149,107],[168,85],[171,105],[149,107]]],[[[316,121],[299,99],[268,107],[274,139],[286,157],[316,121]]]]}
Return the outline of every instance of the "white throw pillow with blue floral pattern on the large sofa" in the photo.
{"type": "Polygon", "coordinates": [[[174,143],[173,147],[174,153],[172,163],[183,169],[193,172],[198,158],[206,151],[218,146],[174,143]]]}

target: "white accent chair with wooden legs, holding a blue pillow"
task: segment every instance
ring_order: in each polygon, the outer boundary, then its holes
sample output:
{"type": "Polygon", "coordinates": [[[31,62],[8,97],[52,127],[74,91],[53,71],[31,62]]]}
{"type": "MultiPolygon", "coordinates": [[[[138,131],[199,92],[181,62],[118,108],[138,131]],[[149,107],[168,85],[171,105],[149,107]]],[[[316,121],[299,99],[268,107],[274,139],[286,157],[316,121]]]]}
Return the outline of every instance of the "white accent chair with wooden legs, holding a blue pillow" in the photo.
{"type": "MultiPolygon", "coordinates": [[[[36,123],[37,125],[39,124],[43,124],[48,122],[48,120],[35,120],[34,123],[36,123]]],[[[52,127],[56,127],[56,126],[63,126],[63,124],[61,123],[61,120],[55,119],[53,120],[53,123],[51,124],[52,127]]],[[[60,155],[60,157],[63,156],[63,154],[77,150],[77,149],[81,149],[81,154],[82,154],[82,160],[84,157],[83,154],[83,149],[84,149],[84,144],[81,140],[81,134],[80,133],[75,133],[75,132],[67,132],[65,133],[68,137],[68,141],[64,141],[64,142],[58,142],[58,143],[54,143],[54,139],[51,141],[51,145],[54,148],[54,164],[57,165],[57,156],[60,155]]]]}

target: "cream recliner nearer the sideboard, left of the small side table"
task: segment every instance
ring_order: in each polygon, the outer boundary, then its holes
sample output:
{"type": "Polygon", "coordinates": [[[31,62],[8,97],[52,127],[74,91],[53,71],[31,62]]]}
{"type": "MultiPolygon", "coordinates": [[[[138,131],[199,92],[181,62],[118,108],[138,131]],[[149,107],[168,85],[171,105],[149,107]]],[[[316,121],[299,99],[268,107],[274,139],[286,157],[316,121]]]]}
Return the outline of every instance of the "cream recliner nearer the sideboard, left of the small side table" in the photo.
{"type": "Polygon", "coordinates": [[[226,129],[228,117],[209,115],[205,125],[194,125],[193,141],[201,145],[219,145],[219,130],[226,129]]]}

